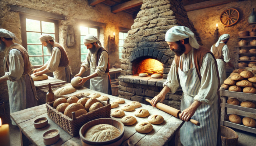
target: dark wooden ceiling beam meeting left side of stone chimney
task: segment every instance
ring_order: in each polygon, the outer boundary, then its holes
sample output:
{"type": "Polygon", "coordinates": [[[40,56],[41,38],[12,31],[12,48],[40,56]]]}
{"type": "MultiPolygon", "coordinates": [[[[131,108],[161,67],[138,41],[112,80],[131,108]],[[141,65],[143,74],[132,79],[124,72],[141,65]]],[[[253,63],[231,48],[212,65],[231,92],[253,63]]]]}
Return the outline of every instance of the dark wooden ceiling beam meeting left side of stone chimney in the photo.
{"type": "Polygon", "coordinates": [[[117,6],[112,7],[111,11],[113,13],[117,13],[117,12],[127,10],[129,8],[136,7],[142,4],[143,4],[143,0],[131,0],[131,1],[127,1],[125,3],[118,4],[117,6]]]}

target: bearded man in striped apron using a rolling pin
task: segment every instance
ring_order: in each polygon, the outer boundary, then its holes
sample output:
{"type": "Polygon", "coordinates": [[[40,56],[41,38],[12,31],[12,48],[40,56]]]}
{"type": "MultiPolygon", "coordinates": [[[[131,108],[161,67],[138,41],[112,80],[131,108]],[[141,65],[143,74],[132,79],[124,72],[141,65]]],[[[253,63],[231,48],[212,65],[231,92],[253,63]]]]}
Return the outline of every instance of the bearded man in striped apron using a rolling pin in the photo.
{"type": "Polygon", "coordinates": [[[166,41],[175,58],[171,65],[164,88],[152,99],[163,102],[167,92],[174,94],[182,87],[181,143],[184,146],[216,146],[221,144],[220,105],[217,90],[220,79],[216,59],[207,49],[200,46],[194,34],[185,26],[174,26],[166,33],[166,41]],[[200,126],[188,122],[192,118],[200,126]]]}

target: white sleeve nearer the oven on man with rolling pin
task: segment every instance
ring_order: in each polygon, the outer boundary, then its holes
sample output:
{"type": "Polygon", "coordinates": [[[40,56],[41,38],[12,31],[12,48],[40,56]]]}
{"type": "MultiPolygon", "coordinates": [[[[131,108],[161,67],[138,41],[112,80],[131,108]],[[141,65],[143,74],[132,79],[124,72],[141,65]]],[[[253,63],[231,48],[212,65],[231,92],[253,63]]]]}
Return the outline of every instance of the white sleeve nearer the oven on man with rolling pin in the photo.
{"type": "Polygon", "coordinates": [[[171,90],[169,91],[171,94],[174,94],[177,88],[179,87],[179,80],[176,73],[176,63],[173,60],[173,64],[171,65],[170,72],[168,73],[166,82],[164,82],[163,86],[167,86],[171,90]]]}

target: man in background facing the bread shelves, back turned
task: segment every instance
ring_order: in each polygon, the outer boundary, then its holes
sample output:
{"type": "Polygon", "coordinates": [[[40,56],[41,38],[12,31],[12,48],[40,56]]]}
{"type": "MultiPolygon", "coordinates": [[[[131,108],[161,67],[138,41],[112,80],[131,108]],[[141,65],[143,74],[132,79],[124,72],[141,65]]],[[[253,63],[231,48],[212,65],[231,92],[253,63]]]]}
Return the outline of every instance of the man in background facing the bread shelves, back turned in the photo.
{"type": "Polygon", "coordinates": [[[217,43],[211,46],[211,52],[213,52],[213,55],[215,56],[218,63],[218,72],[220,74],[221,85],[223,84],[224,80],[227,79],[226,63],[228,63],[230,67],[234,67],[230,62],[231,58],[227,45],[229,38],[229,34],[223,34],[218,39],[217,43]]]}

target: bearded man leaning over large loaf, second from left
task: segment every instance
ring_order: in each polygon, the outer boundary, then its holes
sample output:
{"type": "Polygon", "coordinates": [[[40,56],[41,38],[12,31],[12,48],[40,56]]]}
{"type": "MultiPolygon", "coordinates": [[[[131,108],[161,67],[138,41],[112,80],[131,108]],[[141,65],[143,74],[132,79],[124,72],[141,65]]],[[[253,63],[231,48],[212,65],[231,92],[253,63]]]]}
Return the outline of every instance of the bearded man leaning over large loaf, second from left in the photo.
{"type": "Polygon", "coordinates": [[[42,34],[39,40],[47,51],[51,53],[51,58],[39,69],[35,69],[35,76],[42,75],[47,72],[53,72],[56,79],[71,82],[72,72],[69,66],[69,59],[65,48],[54,42],[54,37],[49,34],[42,34]]]}

